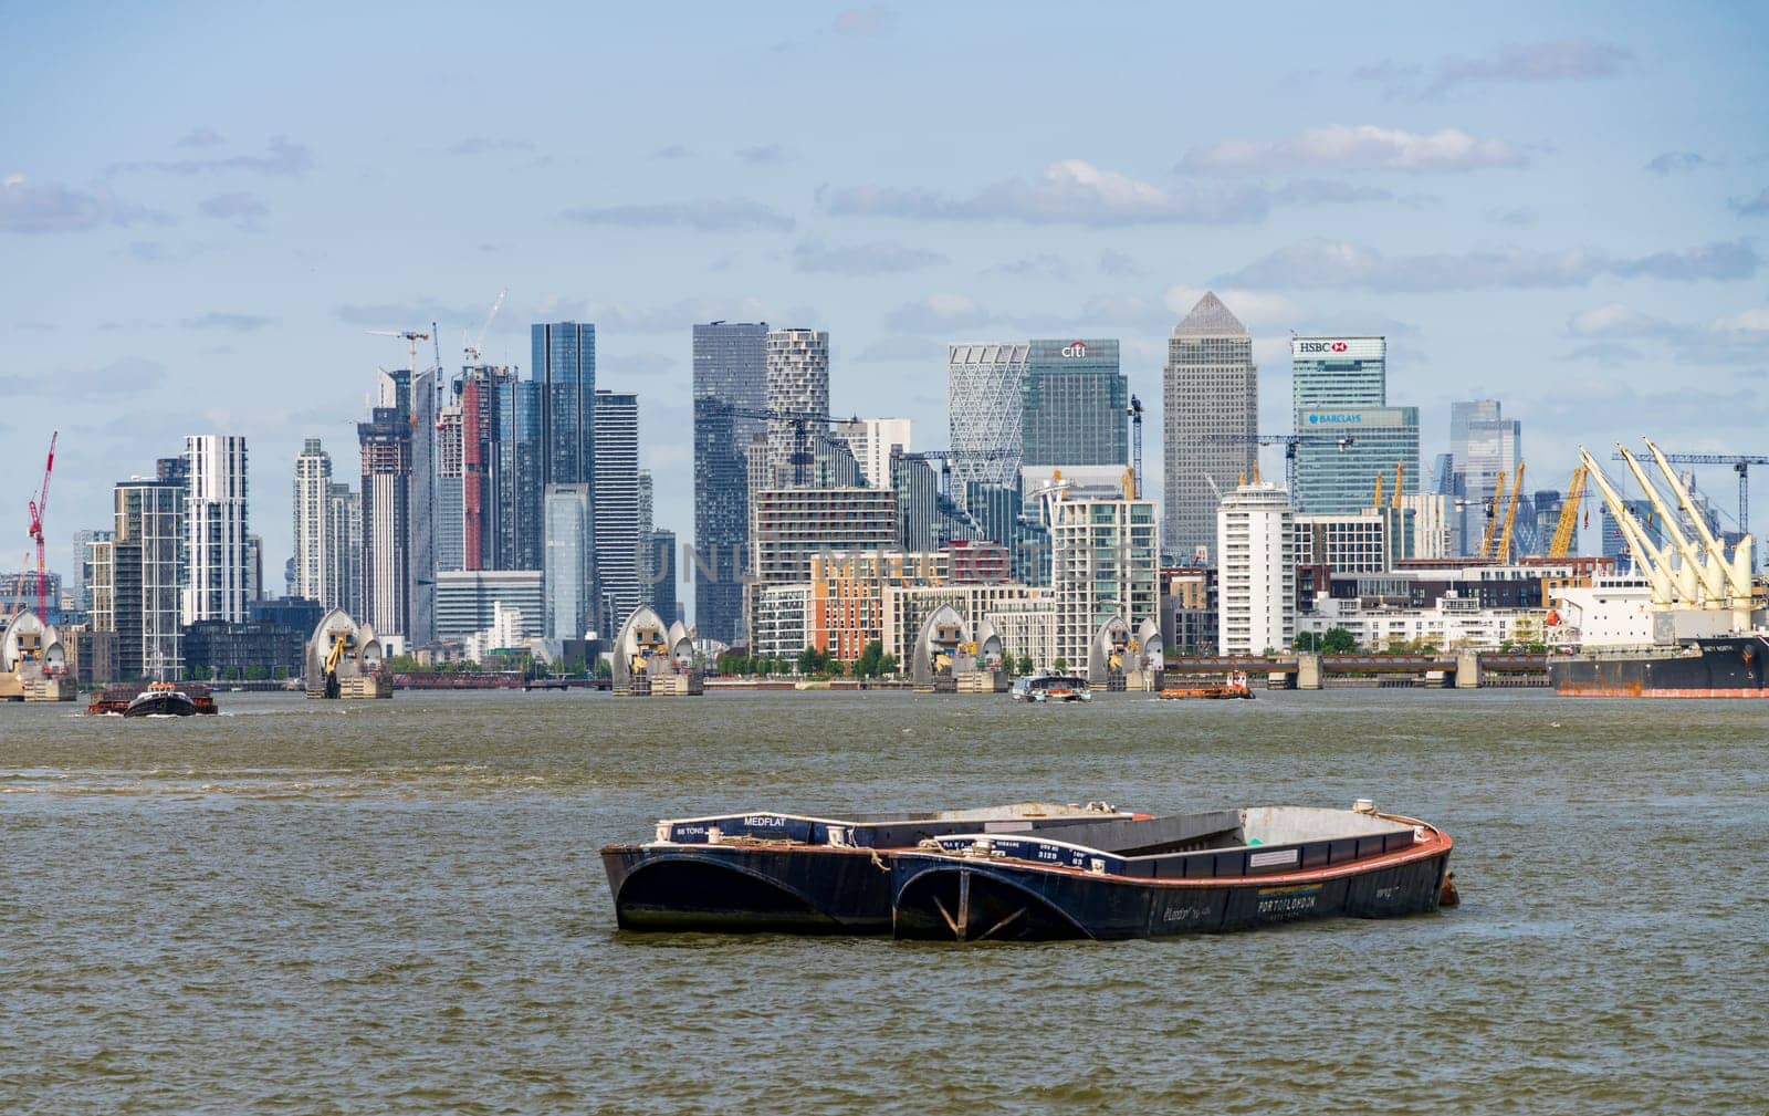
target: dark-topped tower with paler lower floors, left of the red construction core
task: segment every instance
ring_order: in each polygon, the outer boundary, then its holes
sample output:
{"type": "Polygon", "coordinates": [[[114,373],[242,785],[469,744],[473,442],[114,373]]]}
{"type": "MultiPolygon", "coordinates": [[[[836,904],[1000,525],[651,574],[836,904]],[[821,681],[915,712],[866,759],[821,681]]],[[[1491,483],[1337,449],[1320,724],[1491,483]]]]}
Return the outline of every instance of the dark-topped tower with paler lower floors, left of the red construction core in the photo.
{"type": "Polygon", "coordinates": [[[375,635],[405,638],[410,626],[412,426],[393,407],[357,423],[363,453],[363,615],[375,635]]]}

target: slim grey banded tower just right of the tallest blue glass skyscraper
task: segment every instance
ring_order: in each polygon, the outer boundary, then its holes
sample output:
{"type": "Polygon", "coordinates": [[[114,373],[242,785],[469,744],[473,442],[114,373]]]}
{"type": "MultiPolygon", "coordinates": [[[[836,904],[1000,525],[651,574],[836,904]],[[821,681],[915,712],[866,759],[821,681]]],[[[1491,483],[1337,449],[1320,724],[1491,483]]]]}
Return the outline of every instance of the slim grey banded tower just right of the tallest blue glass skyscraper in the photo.
{"type": "Polygon", "coordinates": [[[610,637],[639,607],[639,396],[596,393],[596,485],[591,490],[593,580],[610,637]]]}

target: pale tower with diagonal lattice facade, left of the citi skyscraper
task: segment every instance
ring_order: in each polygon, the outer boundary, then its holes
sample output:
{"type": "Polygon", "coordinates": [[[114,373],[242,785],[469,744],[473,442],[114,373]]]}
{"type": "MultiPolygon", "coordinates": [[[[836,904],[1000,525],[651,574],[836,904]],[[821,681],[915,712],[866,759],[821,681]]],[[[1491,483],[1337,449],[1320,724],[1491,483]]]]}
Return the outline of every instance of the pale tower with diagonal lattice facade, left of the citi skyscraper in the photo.
{"type": "Polygon", "coordinates": [[[946,347],[946,444],[961,499],[971,485],[1010,488],[1019,479],[1030,355],[1031,347],[1019,341],[946,347]]]}

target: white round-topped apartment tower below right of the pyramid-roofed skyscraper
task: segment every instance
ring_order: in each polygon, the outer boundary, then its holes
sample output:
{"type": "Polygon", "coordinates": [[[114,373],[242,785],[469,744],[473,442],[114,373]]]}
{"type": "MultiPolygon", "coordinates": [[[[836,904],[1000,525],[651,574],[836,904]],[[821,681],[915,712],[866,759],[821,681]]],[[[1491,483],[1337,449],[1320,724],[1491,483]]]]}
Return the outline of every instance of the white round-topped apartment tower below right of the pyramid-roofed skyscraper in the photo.
{"type": "Polygon", "coordinates": [[[1238,485],[1217,508],[1217,653],[1284,651],[1297,638],[1297,516],[1290,493],[1238,485]]]}

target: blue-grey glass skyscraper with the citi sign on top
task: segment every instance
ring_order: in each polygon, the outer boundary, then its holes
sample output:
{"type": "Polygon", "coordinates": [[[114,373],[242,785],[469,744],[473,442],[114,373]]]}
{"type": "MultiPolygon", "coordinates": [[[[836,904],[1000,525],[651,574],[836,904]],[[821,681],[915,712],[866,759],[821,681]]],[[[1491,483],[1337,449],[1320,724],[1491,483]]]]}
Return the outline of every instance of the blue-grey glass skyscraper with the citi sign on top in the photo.
{"type": "Polygon", "coordinates": [[[1129,465],[1130,387],[1116,340],[1035,340],[1021,409],[1022,465],[1129,465]]]}

